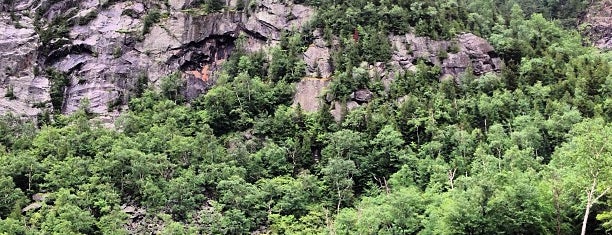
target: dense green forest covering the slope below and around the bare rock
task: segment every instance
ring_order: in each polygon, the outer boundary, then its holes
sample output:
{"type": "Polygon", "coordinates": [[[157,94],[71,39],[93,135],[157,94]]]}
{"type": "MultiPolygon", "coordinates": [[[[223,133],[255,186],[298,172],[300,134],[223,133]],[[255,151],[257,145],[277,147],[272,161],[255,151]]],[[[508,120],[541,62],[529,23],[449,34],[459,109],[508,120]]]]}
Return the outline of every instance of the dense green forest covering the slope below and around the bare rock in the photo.
{"type": "Polygon", "coordinates": [[[310,27],[238,45],[195,100],[175,73],[113,128],[87,102],[2,116],[0,234],[612,232],[612,52],[578,30],[591,1],[294,2],[317,9],[310,27]],[[292,105],[315,29],[339,41],[325,96],[374,94],[340,121],[292,105]],[[440,80],[420,62],[386,91],[360,64],[408,32],[472,32],[504,67],[440,80]]]}

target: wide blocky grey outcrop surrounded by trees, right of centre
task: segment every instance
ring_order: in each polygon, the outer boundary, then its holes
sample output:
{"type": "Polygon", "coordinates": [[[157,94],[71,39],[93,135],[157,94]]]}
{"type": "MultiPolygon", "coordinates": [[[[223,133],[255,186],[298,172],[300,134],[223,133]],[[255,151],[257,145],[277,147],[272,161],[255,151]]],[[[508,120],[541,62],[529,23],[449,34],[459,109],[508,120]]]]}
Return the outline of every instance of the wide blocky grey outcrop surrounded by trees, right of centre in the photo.
{"type": "Polygon", "coordinates": [[[461,34],[451,41],[436,41],[413,34],[390,37],[393,48],[392,64],[396,68],[414,70],[419,59],[439,65],[442,77],[453,77],[472,68],[475,75],[497,72],[501,59],[493,46],[483,38],[471,33],[461,34]]]}

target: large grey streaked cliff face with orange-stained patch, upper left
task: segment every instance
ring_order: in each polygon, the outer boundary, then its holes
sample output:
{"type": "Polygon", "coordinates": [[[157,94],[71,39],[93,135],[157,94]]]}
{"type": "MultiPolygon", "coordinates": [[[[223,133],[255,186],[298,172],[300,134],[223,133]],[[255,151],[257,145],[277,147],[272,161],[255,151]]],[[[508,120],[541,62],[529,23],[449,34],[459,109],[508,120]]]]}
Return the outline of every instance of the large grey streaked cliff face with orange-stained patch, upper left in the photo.
{"type": "Polygon", "coordinates": [[[157,86],[160,78],[180,71],[187,87],[184,95],[196,97],[208,89],[212,73],[241,34],[246,36],[245,49],[256,51],[275,44],[281,30],[298,29],[313,15],[308,7],[278,0],[260,1],[245,11],[232,10],[237,4],[232,0],[229,10],[207,15],[186,9],[191,0],[171,0],[167,6],[163,1],[34,2],[15,0],[0,6],[0,91],[6,94],[10,88],[14,94],[0,97],[0,112],[32,117],[51,108],[53,81],[44,72],[35,76],[34,70],[53,68],[69,78],[62,107],[56,109],[72,113],[89,100],[89,111],[108,122],[141,83],[157,86]],[[150,24],[143,34],[143,19],[152,9],[160,9],[159,23],[150,24]],[[27,17],[36,12],[47,20],[43,30],[58,16],[67,18],[66,36],[43,42],[27,17]],[[50,50],[38,53],[40,48],[50,50]]]}

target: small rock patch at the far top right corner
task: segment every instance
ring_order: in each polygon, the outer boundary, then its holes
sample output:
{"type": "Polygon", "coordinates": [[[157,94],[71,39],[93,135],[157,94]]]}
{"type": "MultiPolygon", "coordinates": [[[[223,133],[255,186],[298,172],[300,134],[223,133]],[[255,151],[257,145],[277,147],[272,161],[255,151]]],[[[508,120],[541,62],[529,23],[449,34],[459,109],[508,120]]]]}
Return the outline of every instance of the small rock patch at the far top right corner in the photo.
{"type": "Polygon", "coordinates": [[[587,25],[586,34],[596,47],[612,49],[612,0],[593,1],[582,23],[587,25]]]}

